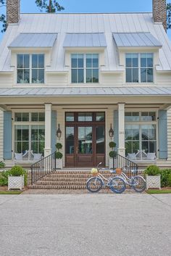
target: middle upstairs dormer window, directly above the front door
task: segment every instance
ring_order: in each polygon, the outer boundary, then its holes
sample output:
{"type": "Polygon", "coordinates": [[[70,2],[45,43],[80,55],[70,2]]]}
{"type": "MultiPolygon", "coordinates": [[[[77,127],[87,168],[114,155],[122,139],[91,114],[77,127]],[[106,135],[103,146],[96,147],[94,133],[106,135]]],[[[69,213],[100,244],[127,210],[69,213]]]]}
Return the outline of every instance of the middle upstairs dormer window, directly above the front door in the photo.
{"type": "Polygon", "coordinates": [[[71,81],[99,83],[99,54],[72,54],[71,81]]]}

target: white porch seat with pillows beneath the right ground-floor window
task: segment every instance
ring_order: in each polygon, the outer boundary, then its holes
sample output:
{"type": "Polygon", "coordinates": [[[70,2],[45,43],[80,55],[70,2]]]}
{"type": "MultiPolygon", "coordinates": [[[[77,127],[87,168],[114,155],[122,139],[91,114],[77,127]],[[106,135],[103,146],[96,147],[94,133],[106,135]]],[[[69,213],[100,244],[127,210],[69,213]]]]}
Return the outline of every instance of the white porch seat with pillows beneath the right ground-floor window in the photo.
{"type": "Polygon", "coordinates": [[[146,153],[145,150],[138,150],[135,154],[128,153],[128,159],[133,162],[156,162],[156,153],[146,153]]]}

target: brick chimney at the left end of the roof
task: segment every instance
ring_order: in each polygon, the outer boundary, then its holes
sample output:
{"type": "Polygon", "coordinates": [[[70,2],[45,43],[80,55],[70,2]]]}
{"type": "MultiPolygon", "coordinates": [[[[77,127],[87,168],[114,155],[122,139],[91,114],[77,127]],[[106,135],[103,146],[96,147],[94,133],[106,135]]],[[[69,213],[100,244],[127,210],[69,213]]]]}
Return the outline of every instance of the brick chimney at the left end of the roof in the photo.
{"type": "Polygon", "coordinates": [[[7,0],[7,25],[20,20],[20,0],[7,0]]]}

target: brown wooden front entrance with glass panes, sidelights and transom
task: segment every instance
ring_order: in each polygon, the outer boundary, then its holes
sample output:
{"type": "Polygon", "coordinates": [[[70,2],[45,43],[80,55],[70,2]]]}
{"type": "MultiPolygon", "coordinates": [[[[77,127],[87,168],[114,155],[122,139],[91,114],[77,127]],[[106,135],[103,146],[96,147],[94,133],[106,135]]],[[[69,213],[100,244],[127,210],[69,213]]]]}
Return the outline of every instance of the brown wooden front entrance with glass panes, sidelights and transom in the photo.
{"type": "Polygon", "coordinates": [[[65,134],[66,167],[105,165],[104,112],[67,112],[65,134]]]}

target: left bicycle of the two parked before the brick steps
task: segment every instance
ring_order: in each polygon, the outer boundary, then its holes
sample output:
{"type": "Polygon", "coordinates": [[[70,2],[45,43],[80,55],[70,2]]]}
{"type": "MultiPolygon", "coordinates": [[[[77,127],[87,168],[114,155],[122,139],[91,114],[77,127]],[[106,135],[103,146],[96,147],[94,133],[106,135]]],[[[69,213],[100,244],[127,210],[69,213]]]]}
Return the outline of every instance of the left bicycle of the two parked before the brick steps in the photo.
{"type": "MultiPolygon", "coordinates": [[[[101,165],[101,162],[99,163],[101,165]]],[[[126,184],[123,178],[120,176],[115,177],[109,177],[105,178],[101,173],[99,173],[99,170],[102,168],[99,168],[99,165],[97,165],[96,173],[94,174],[94,177],[91,177],[88,179],[86,183],[86,187],[88,191],[91,193],[99,192],[103,186],[109,187],[114,193],[121,194],[126,189],[126,184]]],[[[116,170],[110,170],[110,173],[116,174],[116,170]]]]}

